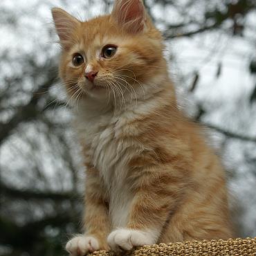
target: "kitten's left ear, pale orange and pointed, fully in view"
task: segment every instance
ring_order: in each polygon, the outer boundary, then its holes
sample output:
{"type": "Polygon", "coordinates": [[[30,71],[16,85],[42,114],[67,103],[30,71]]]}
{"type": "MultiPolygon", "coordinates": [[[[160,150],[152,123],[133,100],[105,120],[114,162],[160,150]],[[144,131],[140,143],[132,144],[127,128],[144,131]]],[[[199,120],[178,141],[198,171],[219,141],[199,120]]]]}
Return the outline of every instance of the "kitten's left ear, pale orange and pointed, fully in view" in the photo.
{"type": "Polygon", "coordinates": [[[80,26],[80,21],[60,8],[53,8],[52,15],[60,44],[66,47],[72,41],[71,36],[80,26]]]}

